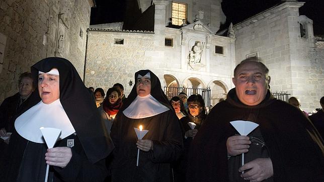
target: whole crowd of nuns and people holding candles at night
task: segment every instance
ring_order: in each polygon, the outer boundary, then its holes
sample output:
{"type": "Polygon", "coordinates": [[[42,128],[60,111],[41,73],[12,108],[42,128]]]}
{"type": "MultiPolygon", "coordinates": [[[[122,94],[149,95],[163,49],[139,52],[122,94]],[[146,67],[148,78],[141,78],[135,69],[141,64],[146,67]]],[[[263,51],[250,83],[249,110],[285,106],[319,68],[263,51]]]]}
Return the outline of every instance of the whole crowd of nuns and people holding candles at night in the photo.
{"type": "Polygon", "coordinates": [[[126,98],[120,83],[87,88],[68,60],[42,59],[0,107],[0,181],[324,181],[324,97],[308,116],[272,96],[268,72],[241,61],[208,111],[199,94],[168,100],[150,70],[126,98]],[[258,127],[243,136],[237,120],[258,127]],[[41,127],[61,130],[53,148],[41,127]]]}

